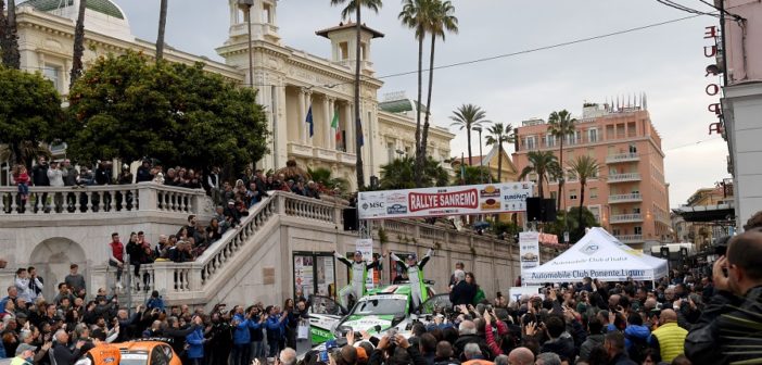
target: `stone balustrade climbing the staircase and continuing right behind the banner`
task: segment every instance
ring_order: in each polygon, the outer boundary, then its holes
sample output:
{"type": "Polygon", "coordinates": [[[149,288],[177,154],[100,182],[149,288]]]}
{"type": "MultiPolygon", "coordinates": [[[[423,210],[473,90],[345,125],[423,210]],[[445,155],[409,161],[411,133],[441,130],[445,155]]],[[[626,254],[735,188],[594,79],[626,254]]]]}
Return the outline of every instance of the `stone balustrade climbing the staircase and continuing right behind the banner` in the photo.
{"type": "MultiPolygon", "coordinates": [[[[226,268],[233,257],[246,244],[257,244],[253,240],[265,224],[277,215],[315,221],[318,224],[340,226],[342,224],[341,210],[346,206],[338,203],[326,202],[318,199],[300,197],[289,192],[271,192],[271,197],[262,201],[250,210],[246,216],[236,228],[229,229],[223,238],[214,242],[204,253],[192,263],[156,262],[141,267],[143,275],[150,278],[150,287],[158,288],[167,299],[198,298],[217,285],[217,276],[226,268]],[[186,295],[187,294],[187,295],[186,295]]],[[[383,228],[388,236],[395,241],[420,244],[422,247],[447,247],[461,252],[480,255],[496,253],[506,259],[518,260],[519,249],[515,242],[499,240],[490,235],[477,235],[468,230],[455,229],[430,225],[415,219],[386,219],[373,223],[374,228],[383,228]]],[[[332,227],[331,227],[332,228],[332,227]]],[[[378,239],[378,237],[376,237],[378,239]]],[[[549,260],[555,254],[554,250],[541,248],[543,260],[549,260]]],[[[140,278],[135,278],[141,280],[140,278]]],[[[142,288],[142,281],[141,281],[142,288]]],[[[148,294],[144,290],[137,291],[132,286],[136,298],[148,294]]]]}

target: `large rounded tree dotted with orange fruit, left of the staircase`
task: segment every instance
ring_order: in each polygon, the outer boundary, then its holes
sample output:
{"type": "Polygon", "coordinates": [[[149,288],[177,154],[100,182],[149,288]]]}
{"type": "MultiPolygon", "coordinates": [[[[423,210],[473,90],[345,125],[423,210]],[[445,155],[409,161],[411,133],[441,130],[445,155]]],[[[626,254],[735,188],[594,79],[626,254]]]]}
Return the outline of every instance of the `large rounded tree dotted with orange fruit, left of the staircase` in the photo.
{"type": "Polygon", "coordinates": [[[240,171],[267,151],[255,97],[203,63],[149,64],[135,52],[100,58],[69,91],[69,153],[80,161],[154,158],[240,171]]]}

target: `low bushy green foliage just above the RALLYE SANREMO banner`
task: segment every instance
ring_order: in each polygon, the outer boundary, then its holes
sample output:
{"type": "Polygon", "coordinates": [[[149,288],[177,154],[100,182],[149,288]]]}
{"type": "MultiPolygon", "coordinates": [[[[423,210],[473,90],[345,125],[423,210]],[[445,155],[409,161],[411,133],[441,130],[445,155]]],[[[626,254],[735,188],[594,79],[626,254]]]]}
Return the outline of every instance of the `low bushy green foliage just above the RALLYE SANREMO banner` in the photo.
{"type": "MultiPolygon", "coordinates": [[[[405,156],[381,166],[380,188],[382,190],[416,188],[415,165],[414,158],[405,156]]],[[[442,167],[442,164],[429,158],[421,174],[421,187],[447,186],[449,174],[442,167]]]]}

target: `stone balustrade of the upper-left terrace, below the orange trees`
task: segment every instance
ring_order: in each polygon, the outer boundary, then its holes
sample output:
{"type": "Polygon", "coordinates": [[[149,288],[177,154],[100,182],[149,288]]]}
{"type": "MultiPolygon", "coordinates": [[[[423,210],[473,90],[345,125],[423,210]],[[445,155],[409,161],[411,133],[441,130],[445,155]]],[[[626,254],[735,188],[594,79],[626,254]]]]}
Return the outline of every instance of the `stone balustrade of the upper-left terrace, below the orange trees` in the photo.
{"type": "Polygon", "coordinates": [[[86,187],[29,187],[27,199],[18,188],[0,187],[0,217],[3,215],[71,215],[123,212],[198,212],[204,191],[154,182],[86,187]]]}

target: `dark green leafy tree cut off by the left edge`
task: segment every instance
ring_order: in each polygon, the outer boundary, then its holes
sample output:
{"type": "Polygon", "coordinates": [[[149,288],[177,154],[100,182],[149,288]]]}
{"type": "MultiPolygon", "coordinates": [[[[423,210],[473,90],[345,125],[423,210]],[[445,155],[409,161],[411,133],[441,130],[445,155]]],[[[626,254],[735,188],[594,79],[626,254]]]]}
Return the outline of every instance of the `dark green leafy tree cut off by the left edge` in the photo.
{"type": "Polygon", "coordinates": [[[0,66],[0,143],[5,143],[11,161],[28,165],[41,143],[60,136],[61,96],[39,73],[30,74],[0,66]]]}

